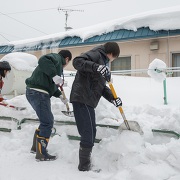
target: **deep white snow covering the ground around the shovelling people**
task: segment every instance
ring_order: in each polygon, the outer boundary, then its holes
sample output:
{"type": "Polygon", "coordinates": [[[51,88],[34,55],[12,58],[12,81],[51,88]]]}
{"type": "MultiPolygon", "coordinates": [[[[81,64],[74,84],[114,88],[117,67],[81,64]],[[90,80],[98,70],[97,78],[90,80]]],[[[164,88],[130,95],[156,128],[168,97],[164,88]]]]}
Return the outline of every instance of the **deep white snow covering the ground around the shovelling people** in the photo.
{"type": "MultiPolygon", "coordinates": [[[[64,87],[67,97],[74,77],[66,77],[64,87]]],[[[79,141],[68,140],[66,134],[78,135],[75,126],[57,125],[57,133],[50,139],[48,151],[57,154],[51,162],[36,162],[30,153],[32,138],[38,123],[22,124],[16,130],[14,121],[0,120],[0,127],[12,128],[10,133],[0,132],[0,180],[179,180],[180,140],[174,137],[153,134],[152,129],[169,129],[180,133],[180,77],[167,78],[167,101],[164,105],[163,83],[150,77],[113,75],[113,85],[123,100],[124,113],[128,120],[137,121],[144,135],[97,127],[96,143],[92,152],[94,168],[100,173],[79,172],[79,141]]],[[[25,111],[0,107],[0,116],[17,119],[36,118],[25,95],[7,100],[9,104],[26,106],[25,111]]],[[[70,104],[70,109],[72,106],[70,104]]],[[[61,111],[66,107],[59,99],[52,98],[55,120],[74,121],[61,111]]],[[[120,125],[123,120],[119,110],[105,99],[96,108],[97,123],[120,125]]]]}

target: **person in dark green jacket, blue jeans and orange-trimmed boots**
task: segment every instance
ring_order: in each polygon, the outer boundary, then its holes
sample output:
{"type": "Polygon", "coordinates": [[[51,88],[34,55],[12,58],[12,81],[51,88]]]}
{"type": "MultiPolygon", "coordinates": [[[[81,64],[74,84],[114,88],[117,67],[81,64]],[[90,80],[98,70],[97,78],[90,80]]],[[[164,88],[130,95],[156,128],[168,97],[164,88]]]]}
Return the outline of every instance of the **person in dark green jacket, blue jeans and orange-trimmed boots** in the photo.
{"type": "Polygon", "coordinates": [[[56,156],[52,156],[47,152],[47,145],[51,135],[54,117],[51,111],[52,96],[60,98],[66,104],[58,86],[62,85],[64,80],[63,68],[72,59],[69,50],[61,50],[57,53],[50,53],[40,57],[38,66],[33,71],[31,77],[26,79],[26,98],[36,111],[40,125],[35,130],[32,153],[36,153],[36,159],[40,161],[55,160],[56,156]]]}

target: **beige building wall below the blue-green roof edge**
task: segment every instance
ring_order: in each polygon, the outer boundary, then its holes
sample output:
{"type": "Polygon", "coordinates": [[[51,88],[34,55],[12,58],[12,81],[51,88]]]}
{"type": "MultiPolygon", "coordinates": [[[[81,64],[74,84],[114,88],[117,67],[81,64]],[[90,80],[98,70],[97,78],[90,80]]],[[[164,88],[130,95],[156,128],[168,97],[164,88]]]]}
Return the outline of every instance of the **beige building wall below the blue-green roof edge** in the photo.
{"type": "MultiPolygon", "coordinates": [[[[153,39],[144,39],[144,40],[133,40],[133,41],[124,41],[118,42],[120,46],[120,57],[130,56],[131,57],[131,69],[147,69],[149,64],[155,59],[163,60],[168,67],[172,66],[172,53],[180,53],[180,36],[175,37],[163,37],[163,38],[153,38],[153,39]],[[156,50],[150,49],[150,47],[155,43],[158,45],[156,50]]],[[[62,49],[68,49],[72,52],[73,58],[84,53],[95,46],[95,45],[84,45],[84,46],[73,46],[73,47],[64,47],[62,49]]],[[[40,56],[54,52],[57,53],[61,48],[54,49],[45,49],[41,51],[27,52],[35,55],[37,58],[40,56]]],[[[4,55],[0,55],[2,58],[4,55]]],[[[65,68],[66,70],[74,70],[72,66],[72,61],[65,68]]],[[[135,74],[134,74],[135,75],[135,74]]],[[[136,76],[146,76],[144,74],[136,74],[136,76]]]]}

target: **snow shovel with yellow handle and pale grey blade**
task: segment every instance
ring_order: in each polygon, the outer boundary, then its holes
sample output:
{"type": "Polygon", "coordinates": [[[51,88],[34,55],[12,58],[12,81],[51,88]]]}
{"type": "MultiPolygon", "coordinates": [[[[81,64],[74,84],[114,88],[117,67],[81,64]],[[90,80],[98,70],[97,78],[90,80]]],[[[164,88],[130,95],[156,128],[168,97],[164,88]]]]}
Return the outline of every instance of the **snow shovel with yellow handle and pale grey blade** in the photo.
{"type": "MultiPolygon", "coordinates": [[[[117,95],[116,95],[116,92],[115,92],[114,87],[112,85],[112,82],[109,81],[108,84],[109,84],[109,87],[111,89],[111,92],[112,92],[114,98],[117,98],[117,95]]],[[[124,114],[124,111],[123,111],[123,108],[121,106],[119,106],[118,108],[119,108],[121,116],[122,116],[122,118],[124,120],[124,123],[122,123],[119,126],[119,131],[122,132],[123,130],[130,130],[130,131],[138,132],[139,134],[143,134],[143,131],[142,131],[140,125],[138,124],[138,122],[136,122],[136,121],[127,121],[127,119],[125,117],[125,114],[124,114]]]]}

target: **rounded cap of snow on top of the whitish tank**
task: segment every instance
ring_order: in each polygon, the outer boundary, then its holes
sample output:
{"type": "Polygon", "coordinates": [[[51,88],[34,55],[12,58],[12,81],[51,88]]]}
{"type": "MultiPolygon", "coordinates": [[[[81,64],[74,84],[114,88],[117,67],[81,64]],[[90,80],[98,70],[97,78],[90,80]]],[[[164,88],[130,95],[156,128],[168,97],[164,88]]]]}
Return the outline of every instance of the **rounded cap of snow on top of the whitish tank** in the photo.
{"type": "Polygon", "coordinates": [[[23,52],[13,52],[1,58],[1,61],[8,61],[12,67],[20,71],[33,71],[37,66],[36,56],[23,52]]]}

